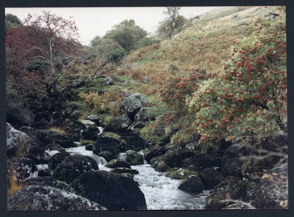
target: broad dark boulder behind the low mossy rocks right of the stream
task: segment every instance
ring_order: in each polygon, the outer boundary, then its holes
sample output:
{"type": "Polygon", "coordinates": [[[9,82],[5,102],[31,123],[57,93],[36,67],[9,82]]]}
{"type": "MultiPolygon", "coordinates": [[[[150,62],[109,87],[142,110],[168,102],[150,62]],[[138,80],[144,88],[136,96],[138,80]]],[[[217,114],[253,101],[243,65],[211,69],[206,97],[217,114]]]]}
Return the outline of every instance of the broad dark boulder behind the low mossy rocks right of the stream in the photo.
{"type": "Polygon", "coordinates": [[[207,154],[195,154],[193,157],[183,159],[181,167],[195,166],[197,168],[207,168],[213,166],[213,160],[207,154]]]}

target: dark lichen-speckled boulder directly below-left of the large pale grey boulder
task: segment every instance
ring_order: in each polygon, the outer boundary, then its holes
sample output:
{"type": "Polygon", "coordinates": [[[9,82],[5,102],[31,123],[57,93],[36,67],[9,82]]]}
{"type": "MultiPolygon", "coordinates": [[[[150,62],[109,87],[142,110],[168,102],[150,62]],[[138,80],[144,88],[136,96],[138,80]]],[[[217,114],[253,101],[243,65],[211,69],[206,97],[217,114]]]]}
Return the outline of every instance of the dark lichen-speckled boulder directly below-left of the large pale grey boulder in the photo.
{"type": "Polygon", "coordinates": [[[130,120],[128,115],[123,114],[121,116],[113,118],[113,120],[111,120],[109,124],[104,127],[103,131],[118,132],[118,133],[126,132],[126,129],[128,128],[128,126],[131,125],[131,123],[132,121],[130,120]]]}

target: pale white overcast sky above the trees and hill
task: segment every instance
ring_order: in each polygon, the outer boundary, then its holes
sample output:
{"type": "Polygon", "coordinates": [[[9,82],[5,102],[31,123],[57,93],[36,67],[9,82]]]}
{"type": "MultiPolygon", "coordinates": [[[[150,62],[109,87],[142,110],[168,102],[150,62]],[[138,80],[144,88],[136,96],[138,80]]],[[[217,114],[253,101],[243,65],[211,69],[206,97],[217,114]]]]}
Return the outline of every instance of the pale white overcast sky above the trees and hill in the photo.
{"type": "MultiPolygon", "coordinates": [[[[181,7],[180,14],[189,17],[200,15],[217,7],[181,7]]],[[[41,14],[42,10],[51,11],[63,18],[74,16],[80,42],[89,45],[97,35],[103,36],[112,26],[125,19],[133,19],[148,33],[164,18],[164,7],[100,7],[100,8],[5,8],[5,13],[18,16],[22,21],[29,13],[41,14]]]]}

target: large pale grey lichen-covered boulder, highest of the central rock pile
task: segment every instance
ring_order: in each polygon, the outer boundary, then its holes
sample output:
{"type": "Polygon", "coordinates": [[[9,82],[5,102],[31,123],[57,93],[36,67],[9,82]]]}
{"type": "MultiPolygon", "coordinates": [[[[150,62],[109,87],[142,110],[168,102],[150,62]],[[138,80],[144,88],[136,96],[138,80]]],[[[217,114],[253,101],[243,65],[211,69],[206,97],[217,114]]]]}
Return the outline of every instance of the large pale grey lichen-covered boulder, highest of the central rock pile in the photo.
{"type": "Polygon", "coordinates": [[[126,114],[131,118],[131,120],[134,120],[135,113],[141,107],[145,107],[146,105],[147,102],[145,98],[141,94],[135,93],[123,100],[119,107],[119,113],[126,114]]]}

